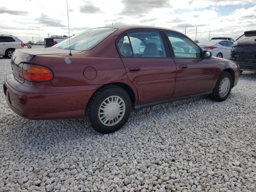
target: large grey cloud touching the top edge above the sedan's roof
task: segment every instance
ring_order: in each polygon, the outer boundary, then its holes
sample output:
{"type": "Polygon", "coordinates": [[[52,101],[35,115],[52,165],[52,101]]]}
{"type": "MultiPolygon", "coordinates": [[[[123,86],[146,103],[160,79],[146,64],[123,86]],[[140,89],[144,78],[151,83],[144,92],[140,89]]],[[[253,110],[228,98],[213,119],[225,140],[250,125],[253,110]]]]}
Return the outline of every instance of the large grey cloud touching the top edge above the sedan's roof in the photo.
{"type": "Polygon", "coordinates": [[[147,14],[154,8],[171,8],[169,0],[122,0],[124,8],[121,15],[141,17],[147,14]]]}

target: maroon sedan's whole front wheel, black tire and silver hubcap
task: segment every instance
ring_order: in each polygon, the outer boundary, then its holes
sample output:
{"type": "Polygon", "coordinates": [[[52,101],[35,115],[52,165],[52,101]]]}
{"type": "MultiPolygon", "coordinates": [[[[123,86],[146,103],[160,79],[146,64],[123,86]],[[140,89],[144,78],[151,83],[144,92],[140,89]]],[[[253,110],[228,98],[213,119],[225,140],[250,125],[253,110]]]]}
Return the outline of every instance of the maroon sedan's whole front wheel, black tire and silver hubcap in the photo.
{"type": "Polygon", "coordinates": [[[222,72],[212,92],[212,100],[224,101],[228,98],[233,85],[232,76],[229,72],[222,72]]]}

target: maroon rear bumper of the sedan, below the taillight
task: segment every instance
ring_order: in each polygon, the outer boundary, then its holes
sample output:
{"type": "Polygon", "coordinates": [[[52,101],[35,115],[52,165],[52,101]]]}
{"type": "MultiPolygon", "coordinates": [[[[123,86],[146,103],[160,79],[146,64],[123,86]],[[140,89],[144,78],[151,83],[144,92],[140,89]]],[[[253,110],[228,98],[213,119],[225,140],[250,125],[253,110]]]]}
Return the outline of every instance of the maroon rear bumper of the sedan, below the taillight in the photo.
{"type": "Polygon", "coordinates": [[[21,84],[12,73],[8,74],[4,80],[6,102],[16,114],[27,119],[77,118],[85,115],[87,103],[98,87],[63,86],[56,88],[47,86],[47,93],[30,93],[36,88],[21,84]],[[24,90],[27,93],[24,93],[24,90]]]}

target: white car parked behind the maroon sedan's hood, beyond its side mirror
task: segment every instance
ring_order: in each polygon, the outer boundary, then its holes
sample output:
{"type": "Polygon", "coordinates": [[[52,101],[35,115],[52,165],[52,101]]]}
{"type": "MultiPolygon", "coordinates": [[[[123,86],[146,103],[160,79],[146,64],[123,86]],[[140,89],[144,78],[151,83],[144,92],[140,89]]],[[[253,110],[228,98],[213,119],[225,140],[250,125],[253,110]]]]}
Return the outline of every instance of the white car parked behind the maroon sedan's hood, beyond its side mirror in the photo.
{"type": "Polygon", "coordinates": [[[233,42],[229,40],[210,40],[198,43],[203,49],[212,52],[212,56],[221,57],[225,59],[230,58],[233,42]]]}

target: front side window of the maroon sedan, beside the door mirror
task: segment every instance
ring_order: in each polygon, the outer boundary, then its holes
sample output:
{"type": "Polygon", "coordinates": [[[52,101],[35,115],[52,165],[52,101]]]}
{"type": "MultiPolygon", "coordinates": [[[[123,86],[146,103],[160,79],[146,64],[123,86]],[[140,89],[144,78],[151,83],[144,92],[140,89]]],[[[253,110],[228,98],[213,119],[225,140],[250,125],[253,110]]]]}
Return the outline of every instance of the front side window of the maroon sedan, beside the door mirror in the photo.
{"type": "Polygon", "coordinates": [[[174,32],[166,32],[166,35],[170,40],[176,58],[202,57],[200,48],[186,36],[174,32]]]}

